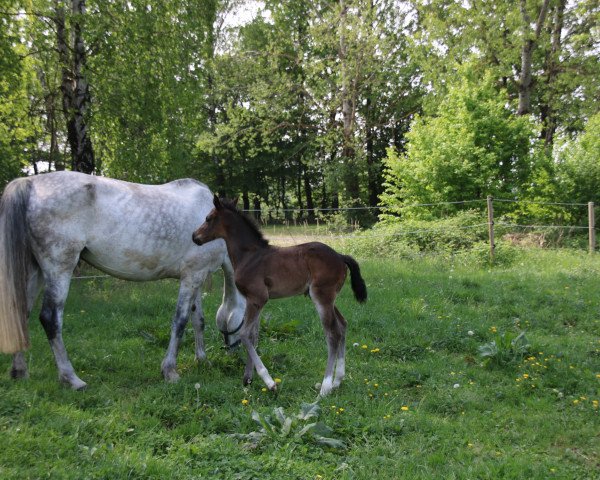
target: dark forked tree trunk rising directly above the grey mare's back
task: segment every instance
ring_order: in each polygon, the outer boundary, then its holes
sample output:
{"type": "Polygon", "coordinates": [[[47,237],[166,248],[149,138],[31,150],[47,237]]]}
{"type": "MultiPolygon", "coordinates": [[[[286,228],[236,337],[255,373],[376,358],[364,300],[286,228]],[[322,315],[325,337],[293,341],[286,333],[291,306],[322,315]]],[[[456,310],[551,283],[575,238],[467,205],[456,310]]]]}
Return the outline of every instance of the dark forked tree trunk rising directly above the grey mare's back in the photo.
{"type": "Polygon", "coordinates": [[[77,172],[93,173],[96,164],[86,123],[91,95],[83,72],[86,53],[81,29],[85,0],[71,0],[71,41],[67,38],[65,9],[60,0],[55,2],[55,12],[56,40],[62,74],[62,107],[67,121],[67,140],[71,148],[71,168],[77,172]]]}

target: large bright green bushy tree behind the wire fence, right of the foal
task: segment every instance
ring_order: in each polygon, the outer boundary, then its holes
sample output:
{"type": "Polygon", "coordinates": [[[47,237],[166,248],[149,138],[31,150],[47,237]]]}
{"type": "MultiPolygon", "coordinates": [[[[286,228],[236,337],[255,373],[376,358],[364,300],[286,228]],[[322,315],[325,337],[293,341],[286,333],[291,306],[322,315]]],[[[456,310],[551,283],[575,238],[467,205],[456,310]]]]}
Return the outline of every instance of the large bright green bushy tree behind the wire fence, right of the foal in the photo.
{"type": "Polygon", "coordinates": [[[415,120],[407,139],[404,155],[388,150],[386,213],[417,215],[413,203],[512,197],[530,182],[534,130],[506,108],[490,75],[463,69],[435,113],[415,120]]]}

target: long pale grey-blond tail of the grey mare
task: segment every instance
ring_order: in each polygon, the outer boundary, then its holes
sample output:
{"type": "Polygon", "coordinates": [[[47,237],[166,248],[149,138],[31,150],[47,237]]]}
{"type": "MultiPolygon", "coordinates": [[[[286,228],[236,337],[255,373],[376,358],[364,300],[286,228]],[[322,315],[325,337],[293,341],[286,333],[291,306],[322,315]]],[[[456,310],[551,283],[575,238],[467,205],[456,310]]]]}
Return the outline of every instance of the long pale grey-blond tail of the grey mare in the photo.
{"type": "Polygon", "coordinates": [[[0,198],[0,351],[29,348],[27,279],[33,256],[27,232],[28,179],[9,183],[0,198]]]}

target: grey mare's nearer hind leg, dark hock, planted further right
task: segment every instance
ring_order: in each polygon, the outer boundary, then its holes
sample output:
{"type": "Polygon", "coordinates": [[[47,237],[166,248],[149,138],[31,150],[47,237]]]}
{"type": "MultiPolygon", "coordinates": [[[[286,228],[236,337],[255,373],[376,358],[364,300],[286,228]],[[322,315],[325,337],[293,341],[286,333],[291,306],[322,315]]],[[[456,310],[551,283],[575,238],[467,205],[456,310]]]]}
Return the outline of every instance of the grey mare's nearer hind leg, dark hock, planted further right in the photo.
{"type": "Polygon", "coordinates": [[[42,302],[42,311],[40,312],[40,321],[54,353],[59,380],[68,384],[74,390],[81,390],[87,384],[75,374],[62,339],[63,312],[69,293],[70,280],[70,273],[46,276],[46,290],[42,302]]]}

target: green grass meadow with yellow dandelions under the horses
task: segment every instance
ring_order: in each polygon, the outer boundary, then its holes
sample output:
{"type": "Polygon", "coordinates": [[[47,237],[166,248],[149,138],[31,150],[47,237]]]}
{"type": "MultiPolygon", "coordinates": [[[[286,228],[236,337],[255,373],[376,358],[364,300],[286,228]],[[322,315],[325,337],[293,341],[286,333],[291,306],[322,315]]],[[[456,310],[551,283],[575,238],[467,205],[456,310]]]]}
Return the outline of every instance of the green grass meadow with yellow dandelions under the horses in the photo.
{"type": "Polygon", "coordinates": [[[317,397],[326,346],[308,299],[265,309],[260,351],[282,379],[274,395],[260,381],[245,390],[243,356],[220,349],[218,288],[204,302],[210,363],[194,362],[189,327],[181,381],[166,384],[177,284],[74,281],[64,338],[88,389],[58,384],[32,321],[30,378],[0,380],[0,478],[599,478],[600,257],[360,263],[369,300],[359,306],[349,285],[339,298],[347,377],[318,418],[346,448],[244,437],[258,430],[252,410],[295,414],[317,397]],[[483,366],[479,346],[522,330],[526,355],[483,366]]]}

